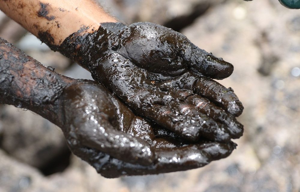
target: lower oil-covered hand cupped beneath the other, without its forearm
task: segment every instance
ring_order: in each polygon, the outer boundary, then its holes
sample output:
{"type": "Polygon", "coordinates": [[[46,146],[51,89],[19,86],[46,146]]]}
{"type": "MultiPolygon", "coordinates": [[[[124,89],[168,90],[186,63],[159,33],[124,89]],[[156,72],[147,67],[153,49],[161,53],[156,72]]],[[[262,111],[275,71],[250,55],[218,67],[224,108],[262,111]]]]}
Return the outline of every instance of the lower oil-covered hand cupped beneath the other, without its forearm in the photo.
{"type": "Polygon", "coordinates": [[[108,178],[198,168],[227,157],[236,146],[208,140],[189,144],[135,116],[95,82],[72,84],[60,100],[70,149],[108,178]]]}

